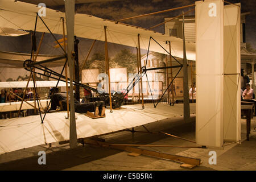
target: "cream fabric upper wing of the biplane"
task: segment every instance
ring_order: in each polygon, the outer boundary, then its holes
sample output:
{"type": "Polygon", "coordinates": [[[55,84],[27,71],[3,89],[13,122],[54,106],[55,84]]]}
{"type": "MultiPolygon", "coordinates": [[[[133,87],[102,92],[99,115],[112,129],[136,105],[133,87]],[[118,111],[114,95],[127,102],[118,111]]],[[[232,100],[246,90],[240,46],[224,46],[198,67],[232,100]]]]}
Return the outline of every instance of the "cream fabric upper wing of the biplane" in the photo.
{"type": "MultiPolygon", "coordinates": [[[[35,17],[36,13],[39,11],[39,7],[30,3],[14,2],[12,0],[1,0],[0,7],[0,27],[34,31],[35,17]]],[[[65,14],[47,8],[46,16],[42,16],[42,19],[54,34],[62,35],[62,28],[54,28],[56,27],[56,24],[60,23],[61,17],[65,17],[65,14]]],[[[92,15],[75,14],[75,35],[77,37],[105,41],[104,26],[107,27],[108,42],[137,47],[139,34],[141,48],[147,50],[148,42],[152,36],[166,50],[168,50],[166,41],[171,41],[172,55],[183,58],[183,40],[180,38],[160,34],[159,32],[146,30],[144,28],[130,26],[124,23],[116,24],[116,22],[112,20],[101,19],[92,15]]],[[[40,19],[38,19],[36,31],[48,32],[40,19]]],[[[164,54],[167,53],[154,41],[151,41],[150,51],[164,54]]],[[[186,52],[188,60],[196,60],[194,43],[186,43],[186,52]]]]}

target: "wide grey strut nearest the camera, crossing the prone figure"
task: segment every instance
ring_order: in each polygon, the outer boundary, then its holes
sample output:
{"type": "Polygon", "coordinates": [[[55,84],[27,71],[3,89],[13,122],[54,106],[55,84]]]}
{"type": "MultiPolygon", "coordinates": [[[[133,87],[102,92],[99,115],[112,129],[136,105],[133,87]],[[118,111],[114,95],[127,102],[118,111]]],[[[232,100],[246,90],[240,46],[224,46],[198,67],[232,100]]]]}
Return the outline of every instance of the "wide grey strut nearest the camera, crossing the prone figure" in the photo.
{"type": "Polygon", "coordinates": [[[75,120],[75,104],[73,94],[73,70],[74,70],[74,20],[75,20],[75,1],[65,0],[65,15],[66,27],[68,35],[68,63],[69,63],[69,76],[70,76],[70,124],[69,124],[69,146],[71,148],[77,147],[77,133],[76,133],[76,120],[75,120]]]}

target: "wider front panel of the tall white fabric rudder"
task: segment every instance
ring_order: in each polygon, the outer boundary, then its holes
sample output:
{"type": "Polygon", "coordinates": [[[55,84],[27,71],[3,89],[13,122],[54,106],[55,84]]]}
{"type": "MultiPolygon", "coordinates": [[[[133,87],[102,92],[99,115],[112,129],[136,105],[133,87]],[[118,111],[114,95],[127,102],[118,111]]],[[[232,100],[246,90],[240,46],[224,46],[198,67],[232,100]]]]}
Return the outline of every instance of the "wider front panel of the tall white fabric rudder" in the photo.
{"type": "Polygon", "coordinates": [[[221,0],[196,1],[196,143],[223,144],[224,38],[221,0]]]}

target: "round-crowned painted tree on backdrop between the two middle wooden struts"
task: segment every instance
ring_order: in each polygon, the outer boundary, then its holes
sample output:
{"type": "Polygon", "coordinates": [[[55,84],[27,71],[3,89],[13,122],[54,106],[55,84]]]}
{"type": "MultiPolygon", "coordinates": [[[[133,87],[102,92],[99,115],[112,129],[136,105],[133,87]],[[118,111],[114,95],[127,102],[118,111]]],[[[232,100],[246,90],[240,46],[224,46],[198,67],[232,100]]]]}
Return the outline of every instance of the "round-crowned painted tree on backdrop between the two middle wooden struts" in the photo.
{"type": "MultiPolygon", "coordinates": [[[[120,68],[127,68],[127,73],[135,73],[137,68],[137,56],[129,49],[122,49],[111,60],[112,64],[117,63],[120,68]]],[[[114,67],[113,67],[114,68],[114,67]]],[[[116,67],[115,67],[116,68],[116,67]]]]}

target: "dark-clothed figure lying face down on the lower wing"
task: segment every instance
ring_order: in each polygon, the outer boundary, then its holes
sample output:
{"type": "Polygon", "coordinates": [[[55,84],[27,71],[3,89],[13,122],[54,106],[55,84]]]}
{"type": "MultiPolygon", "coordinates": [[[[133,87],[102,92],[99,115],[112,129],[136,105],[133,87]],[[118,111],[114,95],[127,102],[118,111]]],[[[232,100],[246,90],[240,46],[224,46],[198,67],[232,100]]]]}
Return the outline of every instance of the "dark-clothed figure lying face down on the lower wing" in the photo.
{"type": "MultiPolygon", "coordinates": [[[[59,89],[53,88],[51,90],[51,108],[49,110],[56,110],[57,106],[60,107],[60,102],[62,104],[63,110],[67,110],[67,94],[66,93],[58,93],[59,89]]],[[[69,98],[70,102],[70,98],[69,98]]],[[[77,101],[74,98],[74,104],[75,104],[75,112],[76,113],[86,113],[94,112],[95,116],[98,116],[99,113],[101,116],[105,114],[105,102],[89,102],[81,104],[79,101],[77,101]]]]}

